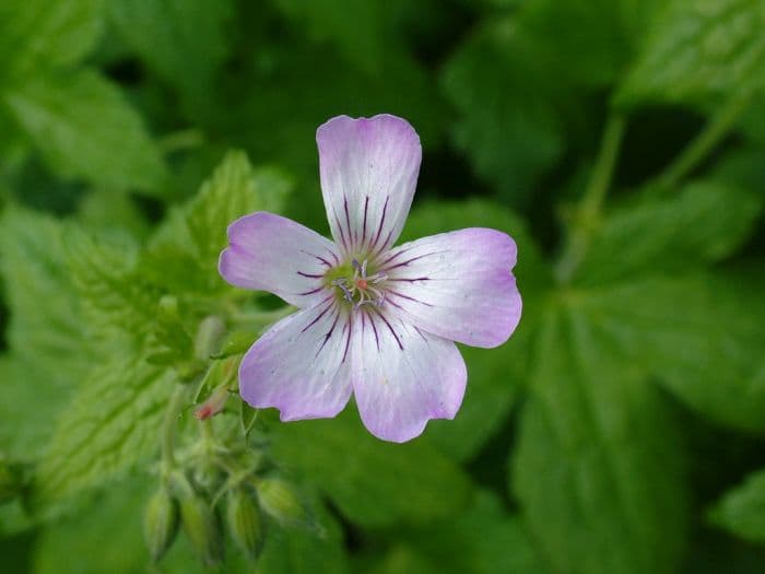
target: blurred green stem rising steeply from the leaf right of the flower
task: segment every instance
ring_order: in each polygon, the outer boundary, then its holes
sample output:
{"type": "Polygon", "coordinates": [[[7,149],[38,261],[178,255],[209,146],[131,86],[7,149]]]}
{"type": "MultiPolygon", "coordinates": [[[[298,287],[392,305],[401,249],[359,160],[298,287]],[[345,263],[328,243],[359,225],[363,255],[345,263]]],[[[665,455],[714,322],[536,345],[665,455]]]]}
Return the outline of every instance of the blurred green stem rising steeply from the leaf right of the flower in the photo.
{"type": "Polygon", "coordinates": [[[605,124],[592,175],[576,210],[566,247],[555,266],[555,276],[561,282],[567,282],[572,278],[587,253],[611,185],[624,127],[624,116],[619,114],[612,115],[605,124]]]}

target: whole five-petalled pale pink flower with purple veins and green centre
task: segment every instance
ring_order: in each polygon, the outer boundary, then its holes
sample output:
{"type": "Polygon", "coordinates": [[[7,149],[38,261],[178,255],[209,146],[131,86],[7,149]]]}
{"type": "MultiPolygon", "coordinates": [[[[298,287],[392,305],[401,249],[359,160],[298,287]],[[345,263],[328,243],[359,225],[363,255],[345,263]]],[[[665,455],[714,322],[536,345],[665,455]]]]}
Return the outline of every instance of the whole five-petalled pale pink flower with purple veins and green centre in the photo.
{"type": "Polygon", "coordinates": [[[516,245],[473,227],[393,247],[422,159],[404,119],[339,116],[316,141],[334,242],[268,212],[228,226],[221,276],[298,307],[247,351],[239,390],[282,421],[334,417],[353,393],[375,436],[405,442],[459,410],[467,370],[454,341],[496,347],[518,325],[516,245]]]}

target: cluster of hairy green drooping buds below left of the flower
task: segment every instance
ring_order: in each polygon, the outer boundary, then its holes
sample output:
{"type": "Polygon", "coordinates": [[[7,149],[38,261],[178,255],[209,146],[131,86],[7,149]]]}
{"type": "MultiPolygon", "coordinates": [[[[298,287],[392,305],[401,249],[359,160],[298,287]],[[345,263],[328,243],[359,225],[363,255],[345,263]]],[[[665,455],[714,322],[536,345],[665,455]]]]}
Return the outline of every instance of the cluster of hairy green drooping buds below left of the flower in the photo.
{"type": "MultiPolygon", "coordinates": [[[[174,301],[163,301],[160,315],[161,326],[177,327],[174,301]]],[[[157,339],[162,339],[161,330],[157,339]]],[[[214,565],[223,561],[226,537],[256,560],[269,520],[284,527],[313,526],[296,488],[266,464],[266,446],[248,441],[257,412],[244,403],[240,409],[232,408],[232,402],[239,400],[235,393],[238,363],[252,337],[239,331],[226,335],[220,318],[207,317],[193,339],[181,338],[173,350],[178,368],[190,364],[203,367],[196,377],[193,398],[189,385],[179,385],[181,399],[168,407],[161,483],[144,514],[146,546],[154,562],[166,554],[179,532],[188,538],[202,563],[214,565]],[[184,418],[191,406],[193,418],[184,418]],[[232,417],[236,411],[238,417],[232,417]],[[236,418],[240,418],[240,424],[232,420],[236,418]],[[176,448],[174,431],[181,419],[197,426],[199,435],[192,441],[185,437],[183,447],[176,448]]],[[[185,383],[193,380],[181,378],[185,383]]]]}

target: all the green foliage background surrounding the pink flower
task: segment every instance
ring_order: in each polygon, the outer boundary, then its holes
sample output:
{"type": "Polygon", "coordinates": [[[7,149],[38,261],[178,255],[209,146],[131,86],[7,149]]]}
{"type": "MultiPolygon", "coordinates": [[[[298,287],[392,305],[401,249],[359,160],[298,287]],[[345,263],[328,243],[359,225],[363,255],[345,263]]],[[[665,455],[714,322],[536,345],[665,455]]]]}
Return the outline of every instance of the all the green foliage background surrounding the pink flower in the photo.
{"type": "Polygon", "coordinates": [[[11,567],[145,572],[158,492],[184,508],[168,573],[760,572],[764,22],[761,0],[0,2],[11,567]],[[243,214],[326,232],[316,127],[382,112],[424,148],[401,241],[502,230],[523,296],[508,343],[461,349],[456,420],[405,445],[353,407],[243,406],[242,353],[289,309],[216,271],[243,214]]]}

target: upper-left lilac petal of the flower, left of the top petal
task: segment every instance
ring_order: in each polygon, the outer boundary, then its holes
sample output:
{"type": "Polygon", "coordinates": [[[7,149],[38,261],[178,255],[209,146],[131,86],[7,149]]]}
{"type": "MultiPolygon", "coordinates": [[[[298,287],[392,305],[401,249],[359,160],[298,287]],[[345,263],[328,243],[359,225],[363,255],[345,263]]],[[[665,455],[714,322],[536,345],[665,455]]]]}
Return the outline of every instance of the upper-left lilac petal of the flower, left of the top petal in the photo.
{"type": "Polygon", "coordinates": [[[268,291],[298,307],[316,305],[328,291],[325,272],[338,265],[336,246],[318,233],[264,211],[228,225],[219,272],[232,285],[268,291]]]}

